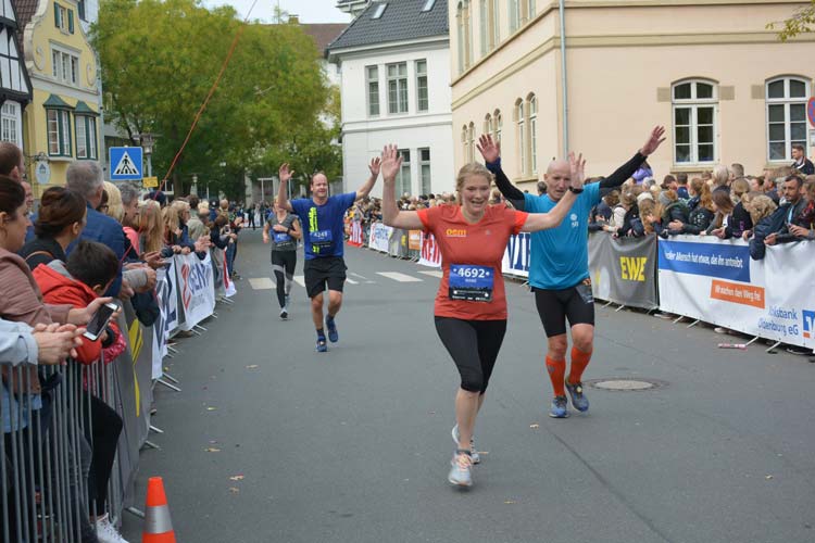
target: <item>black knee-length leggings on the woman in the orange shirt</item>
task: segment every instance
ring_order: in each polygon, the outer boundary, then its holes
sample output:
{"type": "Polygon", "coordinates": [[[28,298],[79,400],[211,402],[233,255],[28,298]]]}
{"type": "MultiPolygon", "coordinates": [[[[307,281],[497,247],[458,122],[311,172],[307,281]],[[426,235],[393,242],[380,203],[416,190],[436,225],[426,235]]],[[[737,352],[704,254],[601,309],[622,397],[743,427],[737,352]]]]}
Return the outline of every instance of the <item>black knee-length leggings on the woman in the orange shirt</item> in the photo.
{"type": "Polygon", "coordinates": [[[459,368],[461,388],[484,394],[506,333],[506,319],[436,317],[436,331],[459,368]]]}

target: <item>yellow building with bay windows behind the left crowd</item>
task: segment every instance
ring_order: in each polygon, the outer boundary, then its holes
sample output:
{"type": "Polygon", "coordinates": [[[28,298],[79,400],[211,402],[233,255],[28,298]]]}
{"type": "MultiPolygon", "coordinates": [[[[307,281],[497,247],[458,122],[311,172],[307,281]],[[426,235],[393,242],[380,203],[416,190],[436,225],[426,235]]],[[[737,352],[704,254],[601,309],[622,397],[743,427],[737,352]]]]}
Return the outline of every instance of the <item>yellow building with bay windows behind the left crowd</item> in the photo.
{"type": "Polygon", "coordinates": [[[85,2],[21,0],[17,12],[33,90],[24,152],[39,198],[49,186],[65,184],[72,161],[99,160],[97,60],[80,24],[85,2]]]}

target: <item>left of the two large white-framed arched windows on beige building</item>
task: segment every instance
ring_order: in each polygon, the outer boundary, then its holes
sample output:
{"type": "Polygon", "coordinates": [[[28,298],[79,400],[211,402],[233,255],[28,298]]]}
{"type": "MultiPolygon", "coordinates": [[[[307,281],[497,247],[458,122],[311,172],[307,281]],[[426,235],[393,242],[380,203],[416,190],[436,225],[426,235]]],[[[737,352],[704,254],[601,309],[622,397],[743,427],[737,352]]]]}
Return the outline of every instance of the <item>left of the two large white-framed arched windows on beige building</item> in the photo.
{"type": "MultiPolygon", "coordinates": [[[[710,79],[682,79],[676,81],[670,86],[670,123],[673,127],[673,155],[674,165],[676,166],[695,166],[695,165],[712,165],[718,162],[718,84],[710,79]],[[711,98],[699,98],[697,96],[697,85],[707,85],[712,88],[711,98]],[[690,85],[690,98],[676,98],[676,89],[682,85],[690,85]],[[713,159],[710,161],[699,160],[699,110],[700,109],[712,109],[713,110],[713,159]],[[677,110],[690,110],[688,130],[690,132],[690,141],[687,143],[690,146],[690,160],[685,162],[678,161],[677,146],[677,125],[676,125],[676,111],[677,110]]],[[[682,143],[685,146],[686,143],[682,143]]]]}

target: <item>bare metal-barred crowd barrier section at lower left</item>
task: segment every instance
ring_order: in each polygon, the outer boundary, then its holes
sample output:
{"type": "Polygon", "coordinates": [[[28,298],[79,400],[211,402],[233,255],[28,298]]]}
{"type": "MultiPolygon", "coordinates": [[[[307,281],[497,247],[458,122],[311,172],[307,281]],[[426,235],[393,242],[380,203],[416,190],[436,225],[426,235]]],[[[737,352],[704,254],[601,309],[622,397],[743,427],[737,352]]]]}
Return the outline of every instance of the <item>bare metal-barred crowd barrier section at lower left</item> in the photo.
{"type": "MultiPolygon", "coordinates": [[[[42,394],[15,393],[30,390],[32,366],[0,364],[3,369],[0,419],[0,498],[3,543],[79,542],[83,529],[96,529],[91,513],[88,475],[91,468],[93,426],[91,395],[115,409],[112,370],[101,362],[82,366],[39,367],[42,394]]],[[[120,415],[120,409],[115,409],[120,415]]],[[[97,429],[99,430],[99,429],[97,429]]],[[[108,483],[104,510],[116,523],[123,491],[117,455],[108,483]]]]}

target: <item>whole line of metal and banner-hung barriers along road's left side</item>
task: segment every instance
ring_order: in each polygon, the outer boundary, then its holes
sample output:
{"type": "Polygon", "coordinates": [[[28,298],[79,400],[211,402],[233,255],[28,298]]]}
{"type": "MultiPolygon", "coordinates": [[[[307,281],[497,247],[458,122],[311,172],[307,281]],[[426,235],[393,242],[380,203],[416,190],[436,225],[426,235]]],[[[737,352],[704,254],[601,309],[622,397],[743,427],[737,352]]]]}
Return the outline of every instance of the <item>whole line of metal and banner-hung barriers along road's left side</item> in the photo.
{"type": "Polygon", "coordinates": [[[162,366],[172,350],[167,342],[181,330],[205,330],[200,324],[216,317],[216,301],[231,303],[236,292],[221,250],[204,260],[176,255],[156,275],[160,317],[145,326],[125,302],[117,324],[126,348],[114,359],[88,366],[68,361],[37,371],[0,364],[3,543],[79,542],[95,530],[92,516],[106,513],[116,523],[125,509],[139,513],[139,451],[155,446],[148,438],[158,430],[150,425],[153,386],[175,388],[164,380],[172,379],[162,366]],[[41,394],[29,392],[37,378],[41,394]],[[117,439],[112,413],[122,420],[117,439]],[[109,472],[104,458],[113,458],[106,484],[100,480],[109,472]]]}

